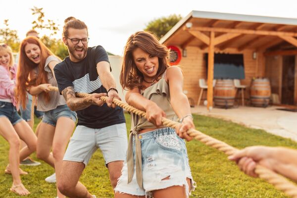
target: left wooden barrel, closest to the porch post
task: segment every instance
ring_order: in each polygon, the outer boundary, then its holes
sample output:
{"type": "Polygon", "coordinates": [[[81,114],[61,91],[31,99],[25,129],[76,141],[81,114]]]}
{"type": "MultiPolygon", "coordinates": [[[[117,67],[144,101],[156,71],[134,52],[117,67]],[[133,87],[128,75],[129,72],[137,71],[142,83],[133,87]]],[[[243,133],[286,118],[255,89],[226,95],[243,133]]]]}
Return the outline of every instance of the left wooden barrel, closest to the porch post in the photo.
{"type": "Polygon", "coordinates": [[[235,86],[233,80],[217,80],[213,89],[213,101],[216,106],[231,107],[235,101],[235,86]]]}

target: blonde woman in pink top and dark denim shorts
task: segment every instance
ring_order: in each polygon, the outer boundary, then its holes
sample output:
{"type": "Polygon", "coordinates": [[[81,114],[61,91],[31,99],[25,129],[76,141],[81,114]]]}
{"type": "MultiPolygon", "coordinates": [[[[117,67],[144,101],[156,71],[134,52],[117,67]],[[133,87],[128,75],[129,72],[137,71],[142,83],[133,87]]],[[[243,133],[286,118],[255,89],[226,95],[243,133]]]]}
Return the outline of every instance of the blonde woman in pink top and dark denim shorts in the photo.
{"type": "Polygon", "coordinates": [[[0,44],[0,135],[9,143],[9,165],[5,173],[11,174],[13,183],[10,191],[18,195],[30,192],[23,186],[19,169],[20,160],[36,150],[37,137],[30,126],[17,113],[15,100],[16,64],[10,47],[0,44]],[[27,146],[20,150],[20,139],[27,146]]]}

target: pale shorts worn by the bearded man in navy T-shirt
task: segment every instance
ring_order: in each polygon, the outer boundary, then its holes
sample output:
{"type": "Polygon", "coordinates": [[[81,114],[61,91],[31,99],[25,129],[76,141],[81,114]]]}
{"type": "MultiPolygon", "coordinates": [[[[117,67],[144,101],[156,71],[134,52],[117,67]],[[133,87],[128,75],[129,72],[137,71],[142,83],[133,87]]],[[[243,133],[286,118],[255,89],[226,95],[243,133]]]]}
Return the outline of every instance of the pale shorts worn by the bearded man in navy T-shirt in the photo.
{"type": "Polygon", "coordinates": [[[66,149],[63,160],[83,162],[87,166],[93,153],[100,148],[105,165],[112,161],[124,161],[128,146],[126,124],[115,124],[102,129],[79,125],[66,149]]]}

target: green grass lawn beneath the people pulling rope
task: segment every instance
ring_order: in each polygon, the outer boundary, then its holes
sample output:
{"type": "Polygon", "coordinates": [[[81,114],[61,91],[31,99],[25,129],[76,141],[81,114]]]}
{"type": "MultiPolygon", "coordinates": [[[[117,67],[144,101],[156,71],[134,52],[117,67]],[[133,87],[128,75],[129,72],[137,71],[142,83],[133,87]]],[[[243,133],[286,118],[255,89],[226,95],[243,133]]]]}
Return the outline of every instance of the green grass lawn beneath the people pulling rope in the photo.
{"type": "MultiPolygon", "coordinates": [[[[195,125],[201,132],[236,148],[251,145],[286,146],[297,148],[297,143],[273,136],[263,130],[247,127],[220,119],[195,115],[195,125]]],[[[130,117],[126,114],[127,129],[130,129],[130,117]]],[[[35,120],[35,127],[39,120],[35,120]]],[[[227,156],[214,149],[204,146],[198,141],[187,143],[190,165],[197,188],[193,198],[286,198],[274,187],[260,179],[254,179],[240,172],[235,163],[228,161],[227,156]]],[[[8,144],[0,137],[0,198],[17,198],[9,192],[12,183],[10,175],[4,174],[8,163],[8,144]]],[[[36,159],[36,155],[32,154],[36,159]]],[[[29,172],[22,176],[23,184],[31,192],[29,198],[54,198],[55,185],[45,182],[45,178],[54,170],[46,163],[40,166],[22,166],[29,172]]],[[[113,192],[109,183],[108,172],[104,166],[101,152],[98,150],[90,160],[80,181],[97,198],[112,198],[113,192]]]]}

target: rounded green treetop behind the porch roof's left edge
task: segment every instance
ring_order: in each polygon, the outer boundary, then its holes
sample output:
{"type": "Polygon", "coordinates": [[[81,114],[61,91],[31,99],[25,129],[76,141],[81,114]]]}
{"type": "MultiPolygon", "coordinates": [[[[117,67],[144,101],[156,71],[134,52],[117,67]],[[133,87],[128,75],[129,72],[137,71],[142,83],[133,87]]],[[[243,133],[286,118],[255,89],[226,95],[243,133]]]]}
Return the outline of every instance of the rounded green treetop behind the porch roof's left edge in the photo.
{"type": "Polygon", "coordinates": [[[160,39],[181,19],[182,16],[180,14],[172,14],[168,17],[157,18],[148,22],[145,31],[154,33],[158,39],[160,39]]]}

